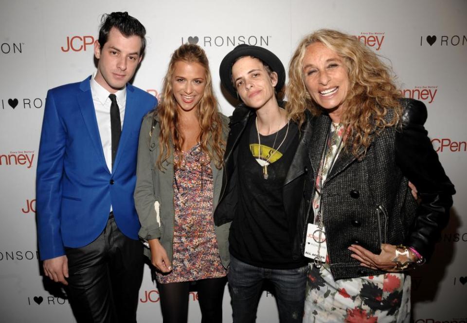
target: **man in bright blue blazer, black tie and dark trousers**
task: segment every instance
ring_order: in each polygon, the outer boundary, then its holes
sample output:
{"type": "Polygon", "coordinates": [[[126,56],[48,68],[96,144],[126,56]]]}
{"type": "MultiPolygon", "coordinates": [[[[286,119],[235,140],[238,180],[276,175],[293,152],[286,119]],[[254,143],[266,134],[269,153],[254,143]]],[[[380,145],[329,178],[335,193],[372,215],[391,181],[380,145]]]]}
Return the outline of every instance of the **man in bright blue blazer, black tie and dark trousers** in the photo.
{"type": "Polygon", "coordinates": [[[37,161],[37,236],[45,275],[68,285],[78,322],[136,322],[143,277],[133,202],[141,121],[157,99],[127,82],[144,26],[104,15],[97,71],[49,90],[37,161]]]}

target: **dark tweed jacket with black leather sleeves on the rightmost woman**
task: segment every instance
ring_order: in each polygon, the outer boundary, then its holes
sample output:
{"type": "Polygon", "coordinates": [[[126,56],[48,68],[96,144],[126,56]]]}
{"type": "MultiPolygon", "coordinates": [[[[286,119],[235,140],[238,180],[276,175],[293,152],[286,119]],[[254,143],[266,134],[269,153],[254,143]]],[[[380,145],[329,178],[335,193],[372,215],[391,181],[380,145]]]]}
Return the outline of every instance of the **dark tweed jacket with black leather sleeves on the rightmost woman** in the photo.
{"type": "MultiPolygon", "coordinates": [[[[385,128],[376,136],[362,160],[344,150],[323,184],[324,227],[334,279],[382,273],[361,267],[350,257],[350,244],[360,244],[375,254],[381,243],[412,246],[430,258],[441,230],[449,220],[454,186],[433,150],[423,127],[427,110],[422,102],[402,99],[402,129],[385,128]],[[416,204],[408,188],[411,181],[421,199],[416,204]]],[[[386,118],[392,118],[392,110],[386,118]]],[[[305,195],[314,195],[331,119],[312,120],[310,135],[311,178],[305,195]]],[[[308,208],[307,222],[313,221],[308,208]]],[[[305,231],[302,233],[305,243],[305,231]]]]}

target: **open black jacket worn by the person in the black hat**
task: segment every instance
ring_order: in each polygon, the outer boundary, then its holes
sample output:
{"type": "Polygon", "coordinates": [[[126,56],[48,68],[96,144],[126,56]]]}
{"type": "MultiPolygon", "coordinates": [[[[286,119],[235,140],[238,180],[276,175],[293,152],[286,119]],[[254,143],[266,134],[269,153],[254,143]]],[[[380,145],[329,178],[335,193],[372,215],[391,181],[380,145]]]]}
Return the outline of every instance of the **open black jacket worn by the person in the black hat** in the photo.
{"type": "MultiPolygon", "coordinates": [[[[285,102],[279,102],[284,106],[285,102]]],[[[237,162],[238,142],[250,118],[255,115],[254,110],[244,104],[238,105],[230,121],[230,133],[224,155],[224,178],[222,182],[221,197],[214,213],[214,222],[221,225],[234,220],[238,192],[237,169],[242,165],[237,162]]],[[[305,178],[309,167],[308,149],[310,138],[310,114],[306,112],[306,120],[301,127],[300,142],[287,172],[283,187],[283,201],[286,212],[288,233],[292,250],[292,258],[303,257],[301,250],[301,232],[305,226],[305,210],[308,209],[304,198],[305,178]]]]}

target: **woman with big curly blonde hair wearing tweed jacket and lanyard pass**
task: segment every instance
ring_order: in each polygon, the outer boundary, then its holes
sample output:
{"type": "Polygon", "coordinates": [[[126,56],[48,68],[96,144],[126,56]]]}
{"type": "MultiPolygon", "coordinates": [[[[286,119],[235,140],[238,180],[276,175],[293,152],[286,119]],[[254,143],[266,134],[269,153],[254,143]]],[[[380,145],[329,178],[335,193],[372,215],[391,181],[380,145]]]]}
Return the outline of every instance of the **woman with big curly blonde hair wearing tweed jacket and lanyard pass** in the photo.
{"type": "Polygon", "coordinates": [[[423,127],[425,105],[402,98],[373,51],[333,30],[300,42],[287,96],[292,116],[315,116],[304,322],[409,322],[405,271],[430,258],[455,193],[423,127]]]}

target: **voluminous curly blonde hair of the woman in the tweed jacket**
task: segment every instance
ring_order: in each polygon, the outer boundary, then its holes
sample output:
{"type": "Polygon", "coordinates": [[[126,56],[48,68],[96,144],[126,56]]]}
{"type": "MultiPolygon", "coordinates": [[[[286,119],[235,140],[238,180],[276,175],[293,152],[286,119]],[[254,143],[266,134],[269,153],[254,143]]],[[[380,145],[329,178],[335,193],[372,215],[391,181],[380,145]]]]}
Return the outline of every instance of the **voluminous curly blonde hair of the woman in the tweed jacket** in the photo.
{"type": "Polygon", "coordinates": [[[355,36],[329,29],[315,31],[305,36],[290,61],[287,110],[292,119],[299,119],[305,109],[313,115],[322,113],[306,90],[303,69],[306,48],[316,42],[335,51],[347,68],[350,88],[342,102],[346,109],[341,115],[341,123],[348,129],[345,148],[362,158],[375,135],[386,127],[400,124],[402,95],[395,85],[392,69],[355,36]],[[394,112],[392,118],[386,118],[389,110],[394,112]],[[363,154],[359,156],[361,149],[363,154]]]}

